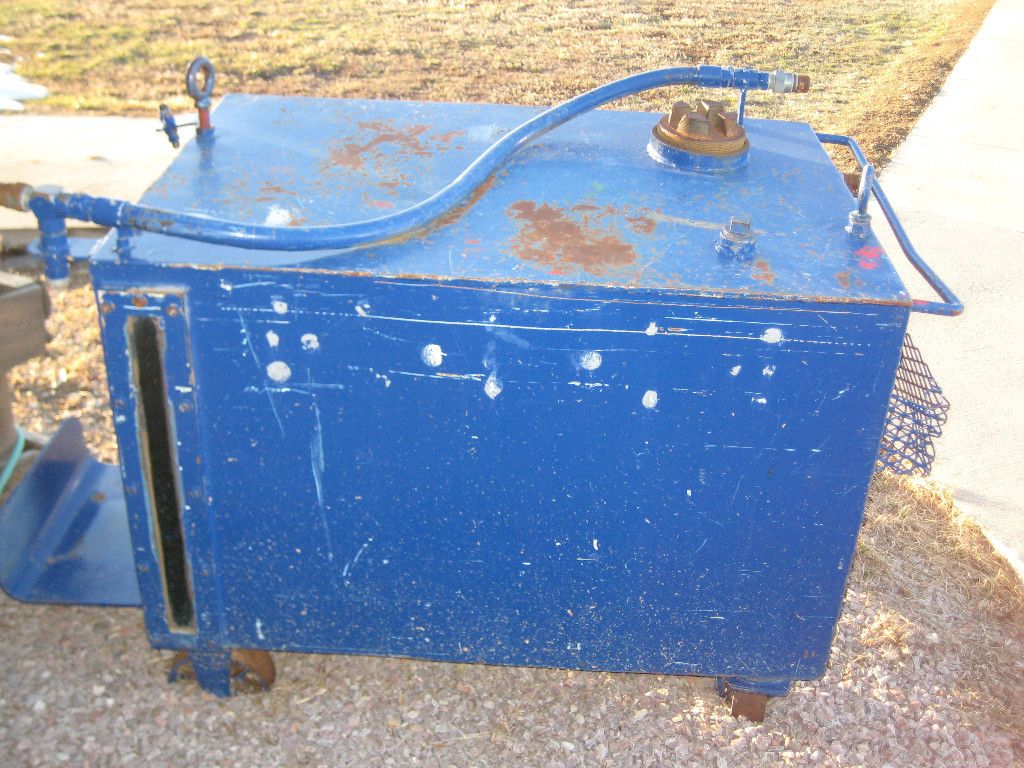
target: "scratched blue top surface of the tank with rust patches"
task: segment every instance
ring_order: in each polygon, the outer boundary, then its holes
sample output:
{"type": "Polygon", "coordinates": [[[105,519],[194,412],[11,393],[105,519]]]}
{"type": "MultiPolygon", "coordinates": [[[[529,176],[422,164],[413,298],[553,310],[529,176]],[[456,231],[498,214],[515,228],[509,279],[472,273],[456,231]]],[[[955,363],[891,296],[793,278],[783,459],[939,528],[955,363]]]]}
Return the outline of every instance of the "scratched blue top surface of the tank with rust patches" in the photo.
{"type": "MultiPolygon", "coordinates": [[[[536,113],[228,95],[214,114],[213,146],[188,143],[142,202],[250,222],[378,216],[429,196],[536,113]]],[[[457,220],[401,243],[331,255],[185,245],[144,233],[133,240],[132,256],[159,264],[305,264],[379,276],[909,304],[873,237],[853,241],[845,232],[852,199],[808,126],[750,119],[750,164],[703,175],[649,157],[657,117],[599,111],[572,121],[518,156],[457,220]],[[737,213],[751,215],[758,231],[751,261],[723,259],[714,248],[722,224],[737,213]],[[865,259],[865,247],[879,250],[865,259]]]]}

